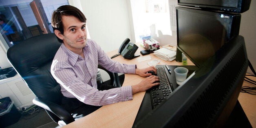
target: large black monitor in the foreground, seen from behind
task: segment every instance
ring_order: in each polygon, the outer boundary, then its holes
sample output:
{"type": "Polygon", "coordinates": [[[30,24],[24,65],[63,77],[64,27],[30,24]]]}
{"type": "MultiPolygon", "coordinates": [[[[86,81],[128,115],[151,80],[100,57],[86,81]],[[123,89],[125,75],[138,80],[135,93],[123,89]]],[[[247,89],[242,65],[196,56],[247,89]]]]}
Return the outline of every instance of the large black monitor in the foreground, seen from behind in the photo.
{"type": "Polygon", "coordinates": [[[230,40],[134,128],[221,127],[232,112],[247,71],[244,38],[230,40]]]}

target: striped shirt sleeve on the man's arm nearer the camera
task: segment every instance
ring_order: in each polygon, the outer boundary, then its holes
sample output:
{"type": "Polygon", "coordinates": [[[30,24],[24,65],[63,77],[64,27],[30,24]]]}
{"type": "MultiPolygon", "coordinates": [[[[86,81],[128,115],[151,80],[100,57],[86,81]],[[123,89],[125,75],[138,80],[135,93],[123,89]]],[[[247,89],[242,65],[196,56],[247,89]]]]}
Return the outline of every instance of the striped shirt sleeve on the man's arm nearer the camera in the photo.
{"type": "Polygon", "coordinates": [[[62,90],[62,93],[65,93],[65,91],[69,92],[64,96],[75,96],[75,98],[85,104],[104,106],[132,100],[131,86],[100,91],[77,78],[70,64],[53,60],[51,73],[56,81],[65,89],[62,90]]]}

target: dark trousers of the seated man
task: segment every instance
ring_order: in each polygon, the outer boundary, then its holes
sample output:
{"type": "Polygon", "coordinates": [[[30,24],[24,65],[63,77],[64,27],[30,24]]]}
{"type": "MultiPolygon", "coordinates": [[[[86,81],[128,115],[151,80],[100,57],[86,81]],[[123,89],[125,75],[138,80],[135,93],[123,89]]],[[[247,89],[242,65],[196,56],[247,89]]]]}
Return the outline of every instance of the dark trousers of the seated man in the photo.
{"type": "MultiPolygon", "coordinates": [[[[115,88],[113,85],[105,85],[102,83],[97,83],[98,90],[108,90],[115,88]]],[[[90,113],[93,113],[95,110],[99,109],[102,106],[93,106],[84,104],[80,102],[77,98],[62,98],[61,106],[66,109],[74,118],[84,117],[90,113]]]]}

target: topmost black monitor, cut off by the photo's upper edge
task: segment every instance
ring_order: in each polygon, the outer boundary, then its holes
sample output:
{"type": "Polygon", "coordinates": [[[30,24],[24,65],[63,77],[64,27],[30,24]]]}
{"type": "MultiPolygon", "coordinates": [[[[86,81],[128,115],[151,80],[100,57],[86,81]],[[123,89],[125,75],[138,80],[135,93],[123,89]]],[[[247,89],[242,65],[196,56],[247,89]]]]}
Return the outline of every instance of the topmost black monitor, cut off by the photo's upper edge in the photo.
{"type": "Polygon", "coordinates": [[[178,0],[178,5],[243,13],[250,7],[251,0],[178,0]]]}

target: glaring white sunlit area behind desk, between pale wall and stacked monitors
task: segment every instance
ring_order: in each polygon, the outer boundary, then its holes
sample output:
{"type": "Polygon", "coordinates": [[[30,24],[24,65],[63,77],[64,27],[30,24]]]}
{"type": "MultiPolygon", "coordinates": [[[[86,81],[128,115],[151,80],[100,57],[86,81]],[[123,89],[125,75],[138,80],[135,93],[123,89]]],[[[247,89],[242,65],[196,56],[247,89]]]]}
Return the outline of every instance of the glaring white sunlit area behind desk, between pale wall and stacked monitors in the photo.
{"type": "Polygon", "coordinates": [[[140,35],[154,38],[160,45],[177,45],[175,0],[130,0],[135,41],[140,35]]]}

